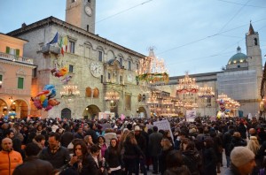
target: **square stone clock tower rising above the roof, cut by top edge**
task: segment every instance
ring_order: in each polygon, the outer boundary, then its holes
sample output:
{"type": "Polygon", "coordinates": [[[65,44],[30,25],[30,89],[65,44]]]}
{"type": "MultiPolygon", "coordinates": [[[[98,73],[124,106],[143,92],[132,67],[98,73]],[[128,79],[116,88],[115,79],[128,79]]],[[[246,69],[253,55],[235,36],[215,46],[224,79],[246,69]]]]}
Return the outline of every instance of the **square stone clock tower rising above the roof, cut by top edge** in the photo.
{"type": "Polygon", "coordinates": [[[96,0],[66,0],[66,22],[95,34],[96,0]]]}

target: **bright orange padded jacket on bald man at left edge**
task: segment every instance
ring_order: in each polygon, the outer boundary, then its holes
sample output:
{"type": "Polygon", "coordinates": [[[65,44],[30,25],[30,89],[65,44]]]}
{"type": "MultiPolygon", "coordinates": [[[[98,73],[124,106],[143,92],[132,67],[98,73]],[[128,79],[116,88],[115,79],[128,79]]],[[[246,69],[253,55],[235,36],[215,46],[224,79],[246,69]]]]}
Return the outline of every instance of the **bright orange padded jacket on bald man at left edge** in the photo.
{"type": "Polygon", "coordinates": [[[0,174],[1,175],[12,175],[14,169],[19,164],[22,164],[22,156],[19,152],[12,150],[6,152],[0,151],[0,174]]]}

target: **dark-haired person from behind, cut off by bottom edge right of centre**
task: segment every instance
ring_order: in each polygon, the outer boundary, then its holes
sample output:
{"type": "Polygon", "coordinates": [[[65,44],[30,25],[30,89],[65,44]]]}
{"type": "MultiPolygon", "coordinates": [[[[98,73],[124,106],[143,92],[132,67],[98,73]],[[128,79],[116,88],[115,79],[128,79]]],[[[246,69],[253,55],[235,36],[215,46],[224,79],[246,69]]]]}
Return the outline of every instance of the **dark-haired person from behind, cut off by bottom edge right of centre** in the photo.
{"type": "Polygon", "coordinates": [[[167,156],[167,170],[164,175],[191,175],[187,166],[184,165],[183,156],[180,151],[172,150],[167,156]]]}

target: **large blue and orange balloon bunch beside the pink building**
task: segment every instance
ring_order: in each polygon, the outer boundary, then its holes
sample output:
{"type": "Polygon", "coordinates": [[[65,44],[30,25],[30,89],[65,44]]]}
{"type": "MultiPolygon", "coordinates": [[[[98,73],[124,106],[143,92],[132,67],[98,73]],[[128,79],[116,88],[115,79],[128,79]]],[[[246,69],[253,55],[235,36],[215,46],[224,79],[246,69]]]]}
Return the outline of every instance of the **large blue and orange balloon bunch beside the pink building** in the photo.
{"type": "Polygon", "coordinates": [[[45,85],[43,91],[38,93],[35,98],[31,98],[34,102],[35,107],[38,110],[43,108],[48,111],[51,110],[53,106],[59,105],[59,102],[56,99],[53,99],[56,95],[56,89],[53,85],[45,85]]]}

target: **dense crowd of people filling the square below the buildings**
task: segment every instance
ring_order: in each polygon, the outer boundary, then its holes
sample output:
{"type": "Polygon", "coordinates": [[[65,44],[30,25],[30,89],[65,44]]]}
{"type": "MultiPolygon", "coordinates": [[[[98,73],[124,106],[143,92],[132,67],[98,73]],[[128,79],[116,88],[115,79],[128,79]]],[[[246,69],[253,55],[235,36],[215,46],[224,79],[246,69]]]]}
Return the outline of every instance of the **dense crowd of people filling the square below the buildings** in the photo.
{"type": "Polygon", "coordinates": [[[263,118],[2,118],[0,126],[1,175],[215,175],[222,166],[227,175],[265,174],[263,118]],[[166,119],[168,130],[153,125],[166,119]]]}

